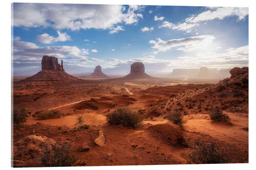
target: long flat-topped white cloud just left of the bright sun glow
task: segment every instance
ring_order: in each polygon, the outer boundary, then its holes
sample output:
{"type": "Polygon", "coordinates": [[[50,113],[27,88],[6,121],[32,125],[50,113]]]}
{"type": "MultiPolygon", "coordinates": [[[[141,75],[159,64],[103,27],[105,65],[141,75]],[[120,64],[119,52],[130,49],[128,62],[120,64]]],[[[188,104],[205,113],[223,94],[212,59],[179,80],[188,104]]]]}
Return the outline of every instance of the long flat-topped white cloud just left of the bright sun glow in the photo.
{"type": "Polygon", "coordinates": [[[214,36],[211,35],[202,35],[197,37],[187,37],[180,39],[170,39],[168,41],[163,41],[160,38],[156,40],[150,40],[150,44],[153,44],[152,48],[157,49],[159,52],[165,52],[172,47],[178,47],[177,50],[183,52],[191,52],[198,48],[202,48],[205,45],[211,43],[215,39],[214,36]]]}

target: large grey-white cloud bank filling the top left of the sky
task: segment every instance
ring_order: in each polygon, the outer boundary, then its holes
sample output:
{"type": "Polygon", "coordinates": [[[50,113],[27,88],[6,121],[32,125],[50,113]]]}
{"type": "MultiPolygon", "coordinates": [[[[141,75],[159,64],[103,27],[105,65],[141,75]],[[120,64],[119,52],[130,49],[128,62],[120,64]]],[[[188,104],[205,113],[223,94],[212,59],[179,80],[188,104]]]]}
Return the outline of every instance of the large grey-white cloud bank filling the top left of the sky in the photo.
{"type": "Polygon", "coordinates": [[[13,26],[53,27],[55,29],[111,29],[118,23],[138,22],[143,6],[92,4],[28,4],[14,3],[13,26]]]}

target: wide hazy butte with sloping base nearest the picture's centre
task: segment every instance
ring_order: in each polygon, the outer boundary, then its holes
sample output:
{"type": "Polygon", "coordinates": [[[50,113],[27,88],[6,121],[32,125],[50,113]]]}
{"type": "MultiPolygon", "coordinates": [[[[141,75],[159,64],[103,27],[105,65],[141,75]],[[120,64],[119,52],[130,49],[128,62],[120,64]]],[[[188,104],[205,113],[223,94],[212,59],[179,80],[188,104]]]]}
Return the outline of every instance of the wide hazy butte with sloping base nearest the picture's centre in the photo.
{"type": "Polygon", "coordinates": [[[145,73],[145,66],[142,62],[134,62],[131,65],[131,72],[129,75],[123,77],[124,79],[149,79],[153,78],[145,73]]]}

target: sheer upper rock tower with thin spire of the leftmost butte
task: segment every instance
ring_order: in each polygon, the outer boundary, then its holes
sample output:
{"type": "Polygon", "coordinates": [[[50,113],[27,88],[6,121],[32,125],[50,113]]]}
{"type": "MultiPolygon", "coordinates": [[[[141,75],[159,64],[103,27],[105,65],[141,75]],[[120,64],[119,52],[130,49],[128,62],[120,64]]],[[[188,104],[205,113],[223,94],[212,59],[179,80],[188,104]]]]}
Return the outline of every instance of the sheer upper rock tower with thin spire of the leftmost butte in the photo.
{"type": "Polygon", "coordinates": [[[42,70],[59,70],[64,71],[63,61],[61,60],[61,65],[58,64],[58,58],[44,56],[41,61],[42,70]]]}

